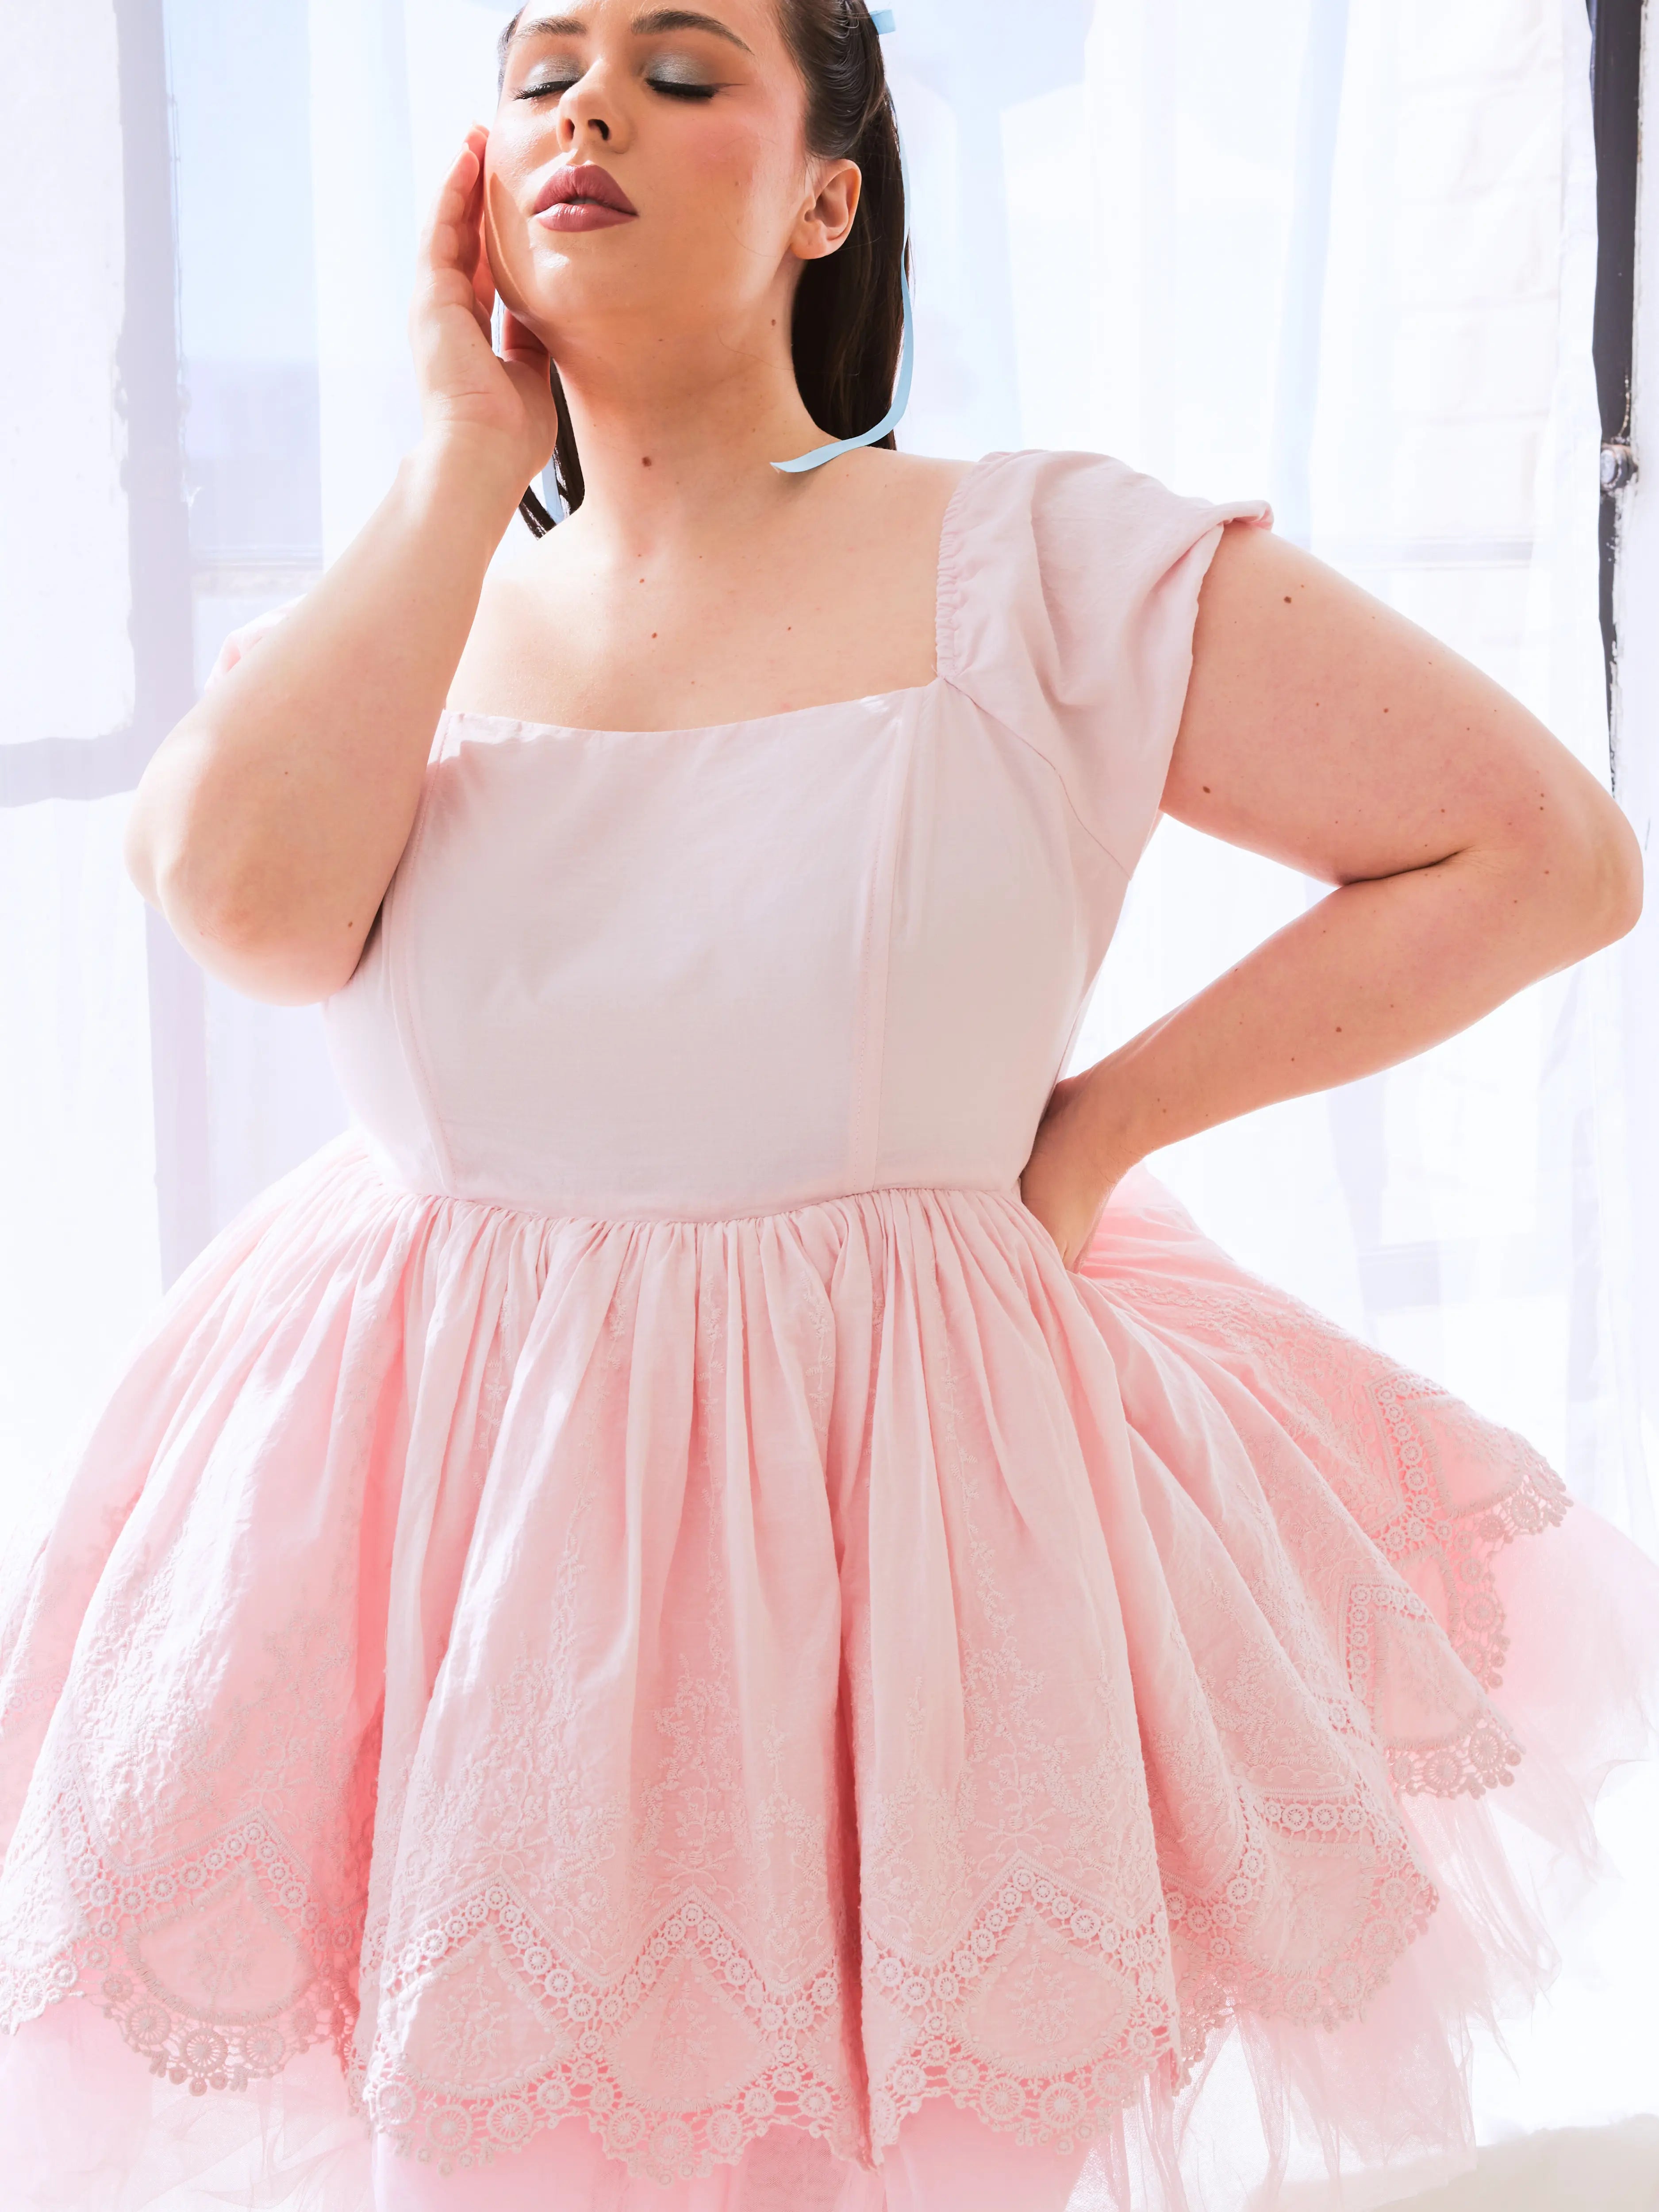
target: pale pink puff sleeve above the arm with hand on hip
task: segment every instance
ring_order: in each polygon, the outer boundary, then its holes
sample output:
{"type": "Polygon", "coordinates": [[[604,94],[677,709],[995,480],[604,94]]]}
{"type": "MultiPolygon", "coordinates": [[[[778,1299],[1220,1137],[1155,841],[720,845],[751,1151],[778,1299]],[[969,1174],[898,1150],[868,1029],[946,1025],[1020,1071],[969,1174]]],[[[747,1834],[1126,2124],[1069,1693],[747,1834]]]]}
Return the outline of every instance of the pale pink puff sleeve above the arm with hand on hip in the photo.
{"type": "Polygon", "coordinates": [[[1157,821],[1192,675],[1192,630],[1225,522],[1214,504],[1102,453],[995,453],[940,560],[940,675],[1060,776],[1124,876],[1157,821]]]}

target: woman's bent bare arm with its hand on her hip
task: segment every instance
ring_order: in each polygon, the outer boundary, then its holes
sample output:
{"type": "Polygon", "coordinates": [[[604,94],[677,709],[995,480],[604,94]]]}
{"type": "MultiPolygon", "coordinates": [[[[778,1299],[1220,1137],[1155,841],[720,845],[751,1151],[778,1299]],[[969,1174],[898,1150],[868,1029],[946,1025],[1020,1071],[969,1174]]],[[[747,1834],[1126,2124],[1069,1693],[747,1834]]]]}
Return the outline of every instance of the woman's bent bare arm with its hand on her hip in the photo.
{"type": "Polygon", "coordinates": [[[1230,526],[1206,580],[1164,807],[1336,889],[1060,1084],[1022,1188],[1068,1263],[1148,1152],[1427,1051],[1641,911],[1635,834],[1595,776],[1267,531],[1230,526]]]}

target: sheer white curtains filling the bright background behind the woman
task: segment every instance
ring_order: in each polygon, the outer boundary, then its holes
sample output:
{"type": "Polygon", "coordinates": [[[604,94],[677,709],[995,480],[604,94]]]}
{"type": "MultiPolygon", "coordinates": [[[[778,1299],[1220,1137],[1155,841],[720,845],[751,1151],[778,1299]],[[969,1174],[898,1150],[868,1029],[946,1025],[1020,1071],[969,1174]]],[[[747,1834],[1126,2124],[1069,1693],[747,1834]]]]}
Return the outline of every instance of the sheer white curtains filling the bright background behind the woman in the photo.
{"type": "MultiPolygon", "coordinates": [[[[161,1283],[343,1119],[316,1015],[204,989],[146,920],[124,794],[226,630],[321,573],[416,434],[416,232],[491,113],[504,13],[38,0],[0,33],[0,1509],[161,1283]]],[[[889,62],[905,442],[1082,445],[1265,493],[1606,776],[1584,0],[902,0],[889,62]]],[[[1621,796],[1646,830],[1659,487],[1635,502],[1621,796]]],[[[1314,896],[1166,823],[1079,1057],[1314,896]]],[[[1659,916],[1409,1068],[1155,1161],[1250,1265],[1526,1431],[1655,1548],[1657,947],[1659,916]]],[[[1659,1863],[1659,1814],[1626,1796],[1608,1840],[1659,1863]]],[[[1486,2135],[1659,2101],[1659,1913],[1619,1913],[1520,2077],[1484,2066],[1486,2135]]]]}

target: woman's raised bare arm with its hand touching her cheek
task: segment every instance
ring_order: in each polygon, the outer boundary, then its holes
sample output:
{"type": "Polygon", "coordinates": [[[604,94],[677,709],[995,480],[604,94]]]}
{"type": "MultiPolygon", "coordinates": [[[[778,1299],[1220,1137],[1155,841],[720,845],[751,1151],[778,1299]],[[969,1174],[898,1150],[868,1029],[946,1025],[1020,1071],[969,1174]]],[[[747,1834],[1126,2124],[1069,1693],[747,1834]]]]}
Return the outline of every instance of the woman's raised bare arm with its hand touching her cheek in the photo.
{"type": "Polygon", "coordinates": [[[352,975],[414,823],[489,560],[557,431],[546,354],[498,361],[480,241],[484,133],[422,239],[409,334],[425,436],[305,599],[161,743],[126,863],[186,951],[250,998],[352,975]]]}

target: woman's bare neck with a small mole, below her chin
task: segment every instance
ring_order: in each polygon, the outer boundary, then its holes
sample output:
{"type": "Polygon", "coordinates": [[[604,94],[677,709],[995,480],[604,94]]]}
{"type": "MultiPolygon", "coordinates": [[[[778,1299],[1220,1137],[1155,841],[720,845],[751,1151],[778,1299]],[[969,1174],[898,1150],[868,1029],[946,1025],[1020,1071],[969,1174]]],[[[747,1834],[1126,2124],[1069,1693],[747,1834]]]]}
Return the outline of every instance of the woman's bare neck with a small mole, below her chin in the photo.
{"type": "Polygon", "coordinates": [[[562,347],[560,383],[582,453],[577,522],[602,555],[752,526],[790,498],[772,462],[825,438],[796,389],[787,310],[768,310],[750,343],[657,334],[606,358],[562,347]]]}

